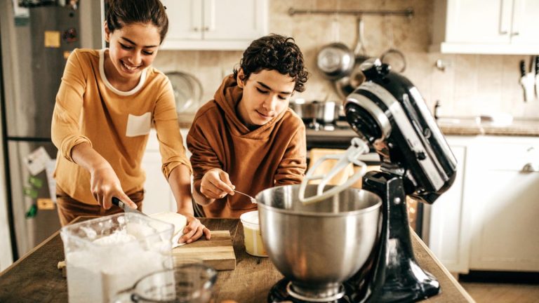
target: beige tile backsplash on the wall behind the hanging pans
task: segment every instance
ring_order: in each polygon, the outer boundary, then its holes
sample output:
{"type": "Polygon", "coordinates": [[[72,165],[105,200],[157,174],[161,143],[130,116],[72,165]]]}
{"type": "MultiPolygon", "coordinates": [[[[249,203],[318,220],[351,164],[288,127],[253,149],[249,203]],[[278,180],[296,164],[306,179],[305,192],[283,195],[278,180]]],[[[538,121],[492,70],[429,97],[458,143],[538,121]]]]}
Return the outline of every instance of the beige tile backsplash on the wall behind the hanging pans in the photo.
{"type": "MultiPolygon", "coordinates": [[[[527,55],[453,55],[429,53],[432,32],[431,0],[268,0],[271,33],[293,36],[305,56],[310,79],[307,90],[294,97],[305,100],[338,100],[333,83],[317,70],[317,51],[338,39],[354,48],[357,37],[356,17],[352,15],[288,15],[288,9],[402,10],[413,8],[411,19],[399,16],[365,15],[366,52],[380,56],[388,48],[397,48],[406,56],[403,73],[425,98],[432,110],[439,100],[441,116],[475,116],[505,112],[515,118],[539,119],[539,100],[524,102],[519,85],[519,61],[527,55]],[[335,31],[338,28],[338,31],[335,31]],[[393,36],[393,39],[390,37],[393,36]],[[393,41],[391,41],[393,40],[393,41]],[[435,67],[437,60],[446,64],[444,71],[435,67]]],[[[232,73],[241,59],[241,51],[161,50],[154,66],[163,72],[184,71],[201,81],[201,102],[213,98],[222,79],[232,73]]]]}

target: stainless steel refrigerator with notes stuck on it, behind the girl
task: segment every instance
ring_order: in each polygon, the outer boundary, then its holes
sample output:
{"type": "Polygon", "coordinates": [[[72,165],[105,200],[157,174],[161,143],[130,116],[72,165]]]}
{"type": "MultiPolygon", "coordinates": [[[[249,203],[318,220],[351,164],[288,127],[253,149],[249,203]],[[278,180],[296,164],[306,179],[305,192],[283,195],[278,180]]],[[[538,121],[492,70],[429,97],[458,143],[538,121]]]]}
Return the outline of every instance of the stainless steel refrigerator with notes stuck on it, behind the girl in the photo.
{"type": "Polygon", "coordinates": [[[51,168],[55,96],[69,52],[101,48],[101,1],[4,1],[1,98],[13,260],[60,228],[51,168]],[[67,4],[66,4],[67,3],[67,4]],[[7,22],[6,22],[7,20],[7,22]]]}

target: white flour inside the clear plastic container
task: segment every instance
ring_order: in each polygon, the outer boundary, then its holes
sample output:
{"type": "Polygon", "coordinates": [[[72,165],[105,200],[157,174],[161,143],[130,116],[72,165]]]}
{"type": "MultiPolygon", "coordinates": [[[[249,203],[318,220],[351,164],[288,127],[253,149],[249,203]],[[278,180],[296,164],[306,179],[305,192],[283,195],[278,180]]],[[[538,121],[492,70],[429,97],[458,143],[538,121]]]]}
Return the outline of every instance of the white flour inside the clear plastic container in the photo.
{"type": "Polygon", "coordinates": [[[170,256],[149,250],[161,245],[152,234],[151,227],[128,223],[124,230],[96,237],[95,245],[67,253],[69,302],[113,302],[142,276],[164,269],[170,256]]]}

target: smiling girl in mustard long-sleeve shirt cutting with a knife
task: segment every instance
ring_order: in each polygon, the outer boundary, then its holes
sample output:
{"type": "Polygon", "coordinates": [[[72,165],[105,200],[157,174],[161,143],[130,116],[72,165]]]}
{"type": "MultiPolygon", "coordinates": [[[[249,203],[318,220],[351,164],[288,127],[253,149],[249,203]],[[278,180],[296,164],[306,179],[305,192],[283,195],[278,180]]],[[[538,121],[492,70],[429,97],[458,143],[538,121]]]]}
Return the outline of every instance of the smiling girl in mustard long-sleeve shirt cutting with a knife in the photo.
{"type": "MultiPolygon", "coordinates": [[[[103,50],[76,49],[56,96],[52,139],[62,225],[79,215],[112,215],[117,197],[132,208],[144,198],[142,155],[157,130],[162,171],[192,242],[210,231],[193,216],[191,166],[185,156],[170,81],[152,67],[168,30],[159,0],[109,1],[103,50]]],[[[149,201],[151,203],[151,201],[149,201]]]]}

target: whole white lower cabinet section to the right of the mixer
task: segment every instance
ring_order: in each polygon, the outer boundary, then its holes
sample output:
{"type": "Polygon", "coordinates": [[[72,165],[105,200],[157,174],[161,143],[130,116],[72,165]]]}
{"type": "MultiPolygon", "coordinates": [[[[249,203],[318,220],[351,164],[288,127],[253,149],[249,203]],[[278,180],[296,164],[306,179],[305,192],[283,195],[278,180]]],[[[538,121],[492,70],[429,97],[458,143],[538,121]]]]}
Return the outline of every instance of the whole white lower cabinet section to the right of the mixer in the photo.
{"type": "Polygon", "coordinates": [[[429,208],[433,253],[453,273],[539,271],[539,137],[447,140],[458,173],[429,208]]]}

